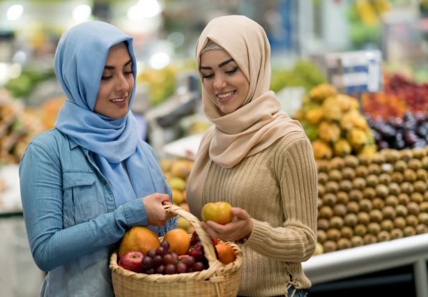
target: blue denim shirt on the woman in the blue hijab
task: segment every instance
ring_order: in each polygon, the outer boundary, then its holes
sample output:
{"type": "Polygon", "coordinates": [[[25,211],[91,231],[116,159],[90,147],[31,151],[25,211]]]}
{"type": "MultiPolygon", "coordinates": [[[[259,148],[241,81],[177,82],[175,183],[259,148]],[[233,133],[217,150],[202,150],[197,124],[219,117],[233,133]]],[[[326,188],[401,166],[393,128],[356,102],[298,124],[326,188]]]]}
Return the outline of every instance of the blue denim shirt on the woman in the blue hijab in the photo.
{"type": "MultiPolygon", "coordinates": [[[[158,159],[144,143],[152,170],[158,159]]],[[[165,177],[156,191],[170,195],[165,177]]],[[[147,226],[141,199],[116,208],[108,181],[89,151],[52,129],[35,137],[20,162],[20,190],[31,253],[47,271],[40,296],[114,296],[109,256],[132,226],[147,226]]],[[[151,227],[163,236],[172,219],[151,227]]]]}

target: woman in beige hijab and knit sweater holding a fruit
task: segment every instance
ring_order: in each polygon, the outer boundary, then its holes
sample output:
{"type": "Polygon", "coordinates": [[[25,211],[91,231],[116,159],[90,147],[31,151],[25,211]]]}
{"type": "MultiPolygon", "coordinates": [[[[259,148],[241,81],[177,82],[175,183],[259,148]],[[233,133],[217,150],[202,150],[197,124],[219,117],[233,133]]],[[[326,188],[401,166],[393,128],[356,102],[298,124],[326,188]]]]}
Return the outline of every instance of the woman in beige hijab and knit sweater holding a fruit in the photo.
{"type": "Polygon", "coordinates": [[[244,253],[240,296],[305,296],[301,262],[316,244],[316,163],[303,128],[280,111],[270,85],[266,33],[244,16],[217,17],[197,41],[204,113],[188,181],[190,211],[228,201],[229,224],[204,228],[244,253]]]}

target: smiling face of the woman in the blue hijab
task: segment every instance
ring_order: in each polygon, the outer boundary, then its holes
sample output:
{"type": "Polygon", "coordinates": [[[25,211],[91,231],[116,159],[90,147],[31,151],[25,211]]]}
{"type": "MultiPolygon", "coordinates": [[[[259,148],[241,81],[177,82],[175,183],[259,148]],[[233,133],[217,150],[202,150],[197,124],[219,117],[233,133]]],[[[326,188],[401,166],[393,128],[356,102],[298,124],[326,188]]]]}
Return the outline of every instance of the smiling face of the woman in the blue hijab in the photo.
{"type": "Polygon", "coordinates": [[[102,71],[94,112],[112,119],[121,119],[128,113],[130,96],[134,88],[131,67],[132,60],[125,43],[110,47],[102,71]]]}

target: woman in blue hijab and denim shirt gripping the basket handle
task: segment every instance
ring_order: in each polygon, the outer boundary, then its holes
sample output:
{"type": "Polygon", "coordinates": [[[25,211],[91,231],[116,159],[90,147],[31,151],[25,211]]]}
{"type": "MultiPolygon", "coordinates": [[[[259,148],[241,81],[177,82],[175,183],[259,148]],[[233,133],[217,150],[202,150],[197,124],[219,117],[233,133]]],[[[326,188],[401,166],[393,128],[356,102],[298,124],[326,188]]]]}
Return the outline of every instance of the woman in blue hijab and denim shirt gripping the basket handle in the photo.
{"type": "Polygon", "coordinates": [[[163,236],[176,226],[162,207],[171,191],[130,112],[132,38],[85,22],[63,34],[54,63],[68,100],[20,163],[31,252],[47,272],[40,296],[114,296],[108,259],[125,231],[163,236]]]}

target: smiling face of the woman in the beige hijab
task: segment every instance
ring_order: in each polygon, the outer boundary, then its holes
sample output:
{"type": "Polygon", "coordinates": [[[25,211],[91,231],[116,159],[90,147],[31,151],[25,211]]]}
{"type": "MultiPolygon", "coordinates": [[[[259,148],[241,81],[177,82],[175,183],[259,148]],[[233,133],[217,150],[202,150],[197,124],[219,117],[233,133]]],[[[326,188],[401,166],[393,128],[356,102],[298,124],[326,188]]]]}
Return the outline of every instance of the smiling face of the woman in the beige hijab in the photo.
{"type": "Polygon", "coordinates": [[[243,105],[250,83],[227,52],[204,52],[199,70],[204,88],[215,98],[215,105],[223,114],[230,114],[243,105]]]}

